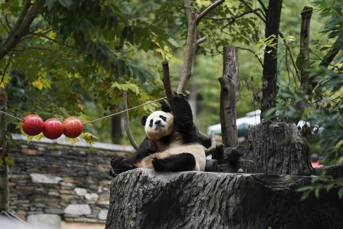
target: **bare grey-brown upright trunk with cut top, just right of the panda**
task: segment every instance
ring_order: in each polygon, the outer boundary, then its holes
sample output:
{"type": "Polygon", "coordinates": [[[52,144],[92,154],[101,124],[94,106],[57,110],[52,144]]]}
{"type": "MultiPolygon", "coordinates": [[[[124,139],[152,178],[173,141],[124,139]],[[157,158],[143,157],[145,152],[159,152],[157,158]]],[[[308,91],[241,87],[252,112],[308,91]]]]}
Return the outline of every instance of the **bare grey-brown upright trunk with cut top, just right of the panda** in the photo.
{"type": "Polygon", "coordinates": [[[218,78],[220,90],[220,123],[222,141],[227,147],[238,145],[236,126],[236,100],[238,87],[238,49],[225,46],[223,50],[223,76],[218,78]]]}

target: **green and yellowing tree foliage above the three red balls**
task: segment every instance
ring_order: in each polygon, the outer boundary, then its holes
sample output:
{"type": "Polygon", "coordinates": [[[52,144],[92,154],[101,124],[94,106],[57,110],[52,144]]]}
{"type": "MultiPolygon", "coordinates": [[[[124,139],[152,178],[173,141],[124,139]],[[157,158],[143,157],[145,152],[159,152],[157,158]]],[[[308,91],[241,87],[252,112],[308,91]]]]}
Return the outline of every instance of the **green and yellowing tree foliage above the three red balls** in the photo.
{"type": "MultiPolygon", "coordinates": [[[[86,122],[86,101],[94,100],[103,110],[115,112],[124,89],[131,106],[161,95],[160,76],[156,70],[140,68],[136,53],[151,50],[168,59],[175,43],[161,27],[125,15],[119,3],[6,1],[0,12],[0,52],[5,53],[0,59],[0,86],[2,93],[8,93],[10,114],[35,113],[61,120],[77,116],[86,122]],[[37,13],[25,28],[33,9],[37,13]],[[23,36],[8,49],[9,38],[17,34],[23,36]]],[[[1,125],[11,127],[9,131],[20,127],[9,117],[1,125]]],[[[92,140],[89,133],[83,137],[92,140]]]]}

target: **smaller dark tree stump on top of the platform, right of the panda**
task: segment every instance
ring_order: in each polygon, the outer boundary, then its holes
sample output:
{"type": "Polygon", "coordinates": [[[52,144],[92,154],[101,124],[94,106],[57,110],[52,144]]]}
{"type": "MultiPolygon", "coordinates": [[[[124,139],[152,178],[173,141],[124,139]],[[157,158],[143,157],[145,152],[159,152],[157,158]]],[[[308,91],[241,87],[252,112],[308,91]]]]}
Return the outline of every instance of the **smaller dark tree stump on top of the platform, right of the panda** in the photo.
{"type": "Polygon", "coordinates": [[[289,175],[315,174],[309,162],[309,145],[294,123],[262,119],[249,128],[246,159],[218,165],[220,172],[268,173],[289,175]]]}

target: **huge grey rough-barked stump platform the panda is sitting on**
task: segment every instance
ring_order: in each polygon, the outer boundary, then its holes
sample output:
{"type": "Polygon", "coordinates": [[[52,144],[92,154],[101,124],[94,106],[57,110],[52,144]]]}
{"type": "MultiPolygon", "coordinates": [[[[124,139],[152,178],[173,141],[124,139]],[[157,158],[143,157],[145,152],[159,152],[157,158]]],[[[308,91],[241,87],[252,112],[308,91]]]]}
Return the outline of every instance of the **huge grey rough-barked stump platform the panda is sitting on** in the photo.
{"type": "Polygon", "coordinates": [[[341,229],[337,190],[300,201],[309,177],[135,169],[111,183],[105,229],[341,229]]]}

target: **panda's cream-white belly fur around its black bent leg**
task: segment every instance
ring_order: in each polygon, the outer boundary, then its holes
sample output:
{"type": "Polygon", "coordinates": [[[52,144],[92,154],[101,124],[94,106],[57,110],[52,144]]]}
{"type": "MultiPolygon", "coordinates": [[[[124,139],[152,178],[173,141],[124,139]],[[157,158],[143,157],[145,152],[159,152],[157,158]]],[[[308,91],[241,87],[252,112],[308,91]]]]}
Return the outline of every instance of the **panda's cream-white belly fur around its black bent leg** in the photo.
{"type": "Polygon", "coordinates": [[[153,168],[151,160],[153,157],[157,158],[165,158],[170,155],[180,154],[180,153],[191,153],[195,157],[195,167],[193,170],[196,171],[205,171],[206,165],[206,155],[204,148],[201,144],[183,144],[180,145],[179,143],[171,144],[168,149],[159,153],[153,153],[149,156],[145,157],[141,161],[139,161],[136,165],[137,167],[144,167],[144,168],[153,168]]]}

